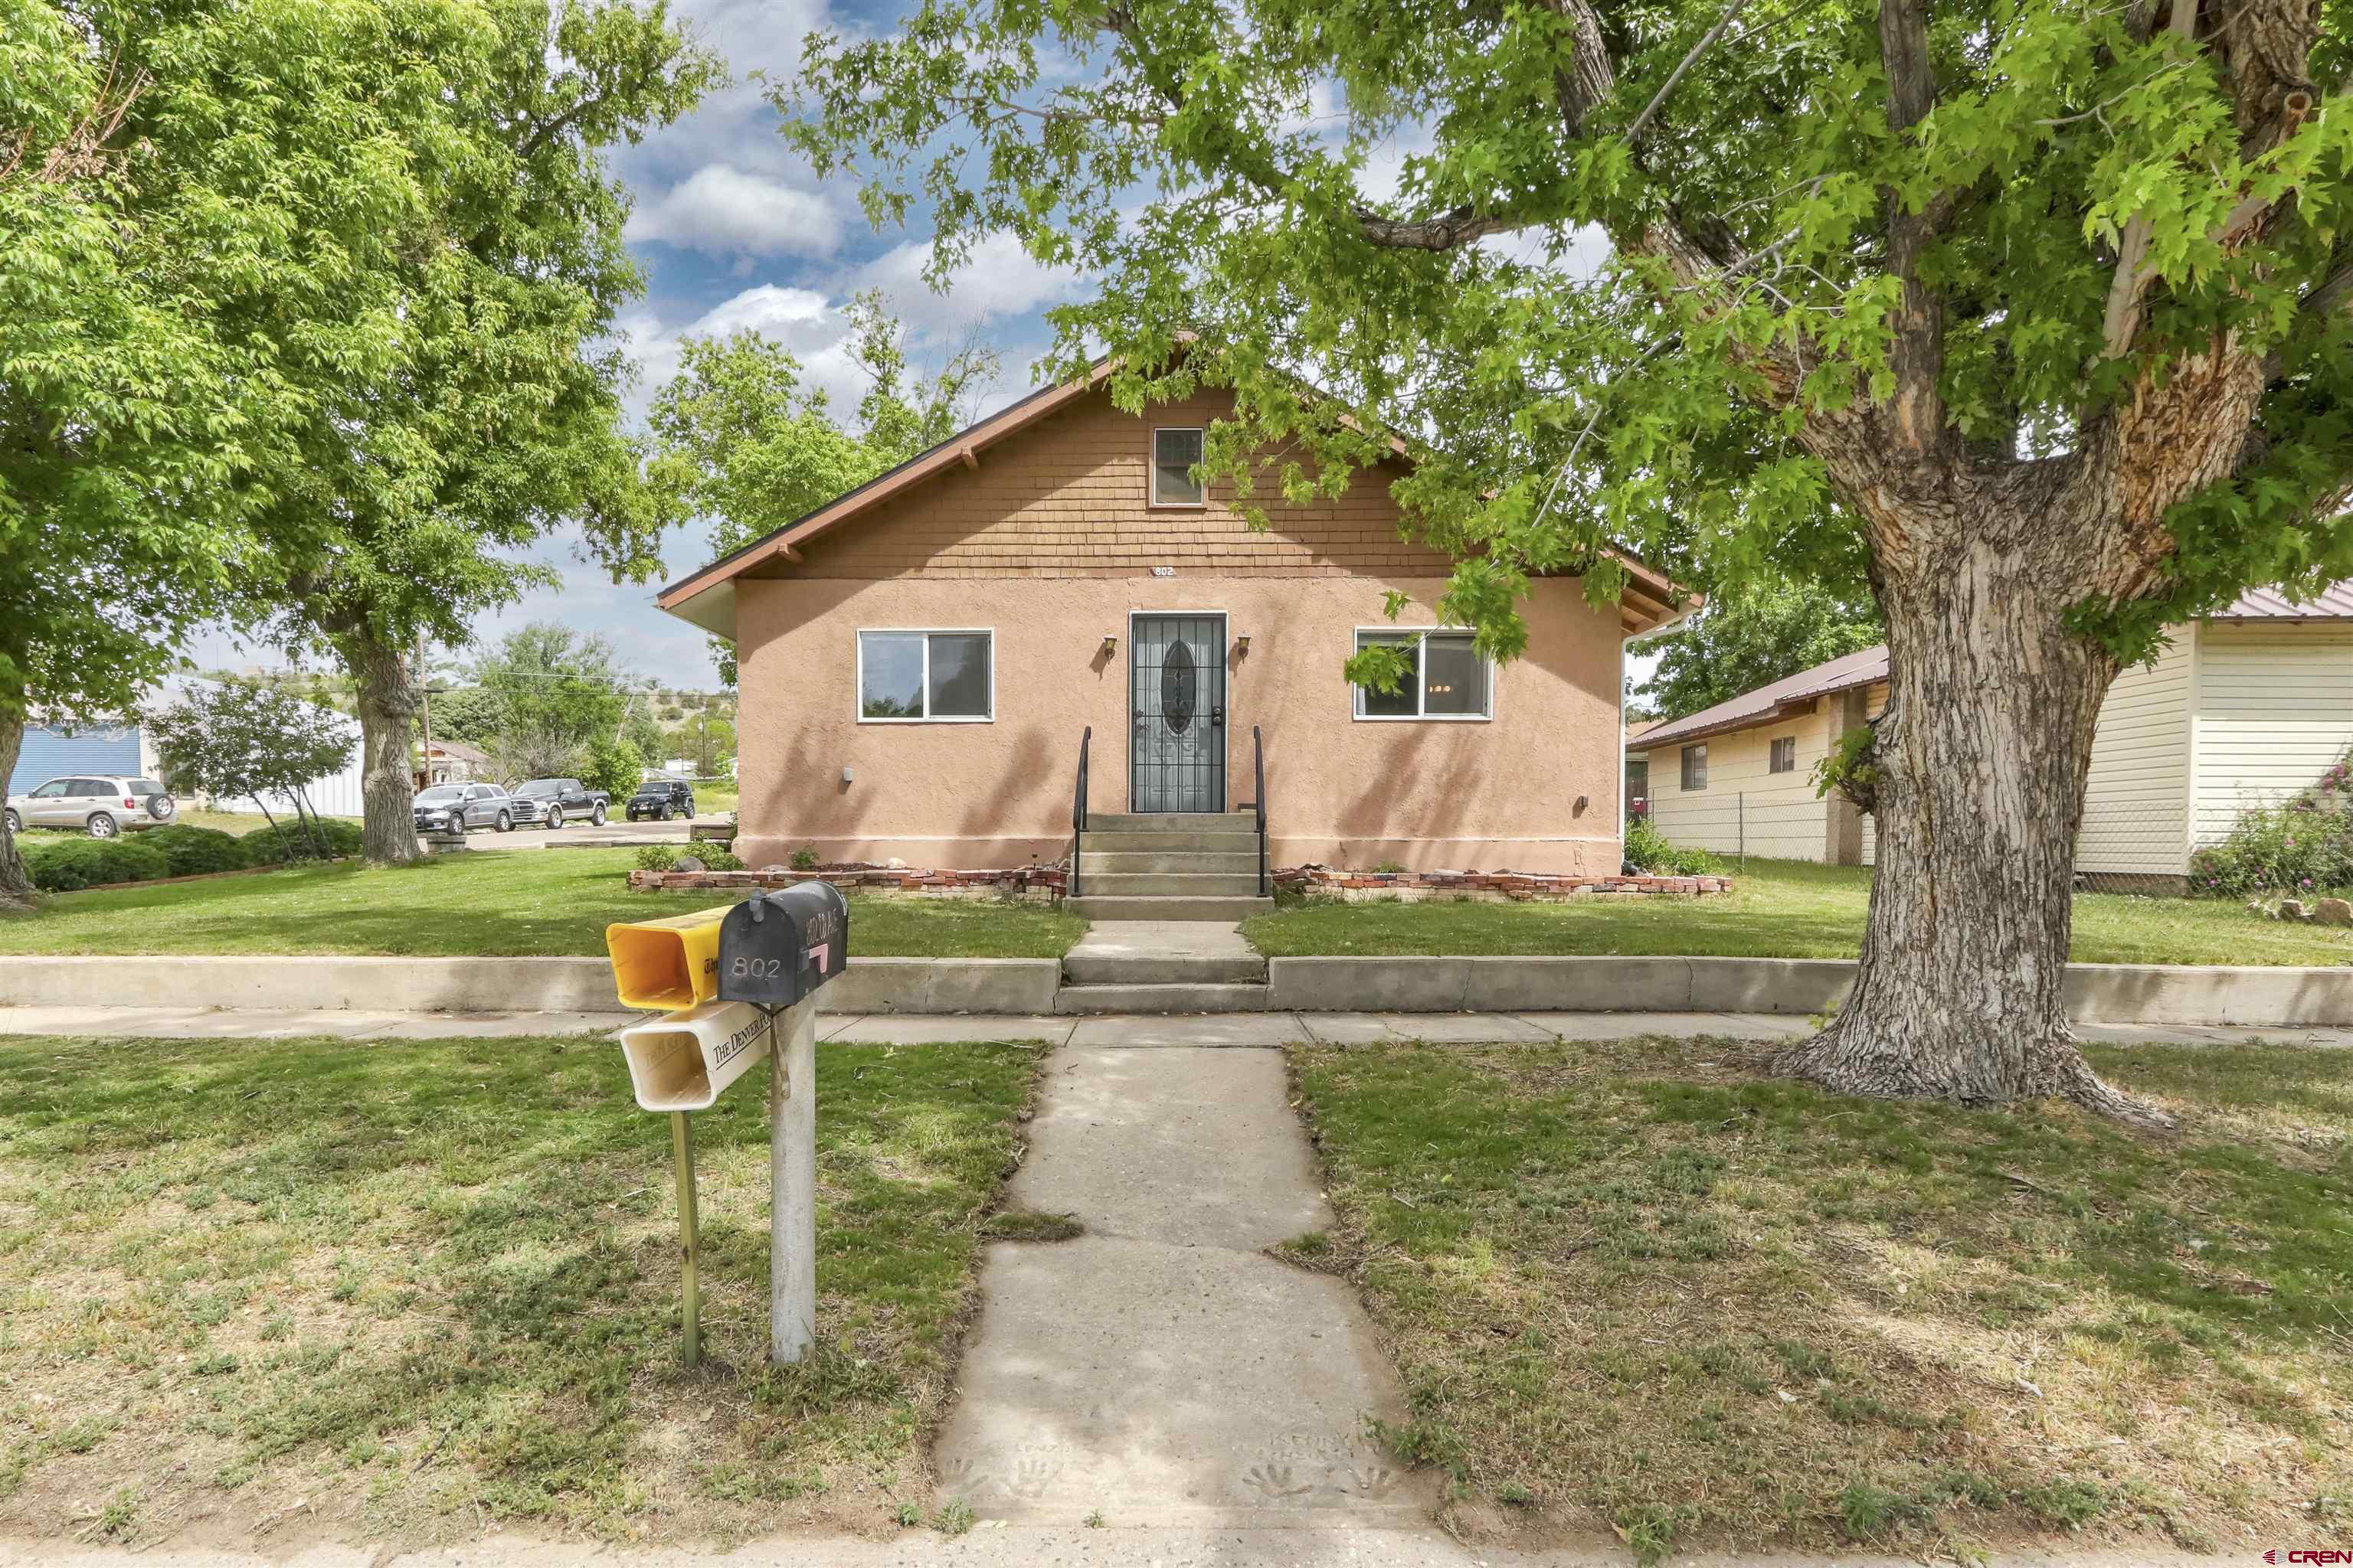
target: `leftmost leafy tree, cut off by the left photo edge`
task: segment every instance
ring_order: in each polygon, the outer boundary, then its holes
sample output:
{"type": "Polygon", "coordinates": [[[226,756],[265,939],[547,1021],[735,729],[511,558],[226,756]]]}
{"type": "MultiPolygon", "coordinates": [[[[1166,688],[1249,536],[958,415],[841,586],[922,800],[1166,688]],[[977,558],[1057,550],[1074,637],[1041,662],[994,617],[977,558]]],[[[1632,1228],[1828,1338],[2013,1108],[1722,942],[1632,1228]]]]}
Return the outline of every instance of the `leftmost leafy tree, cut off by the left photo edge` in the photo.
{"type": "MultiPolygon", "coordinates": [[[[445,0],[0,0],[0,773],[125,712],[398,362],[445,0]]],[[[31,896],[0,825],[0,907],[31,896]]]]}

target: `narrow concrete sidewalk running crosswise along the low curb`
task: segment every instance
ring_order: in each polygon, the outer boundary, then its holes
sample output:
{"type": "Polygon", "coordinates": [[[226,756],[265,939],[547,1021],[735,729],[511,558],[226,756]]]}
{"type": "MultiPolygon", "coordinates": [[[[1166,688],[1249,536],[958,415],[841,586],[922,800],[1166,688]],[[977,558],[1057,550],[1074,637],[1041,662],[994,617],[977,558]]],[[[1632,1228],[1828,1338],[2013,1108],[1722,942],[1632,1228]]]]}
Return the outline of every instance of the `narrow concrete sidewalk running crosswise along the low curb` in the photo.
{"type": "MultiPolygon", "coordinates": [[[[358,1009],[193,1009],[193,1006],[0,1006],[5,1034],[136,1034],[151,1039],[449,1039],[456,1034],[612,1034],[635,1013],[381,1013],[358,1009]]],[[[1805,1018],[1784,1013],[1127,1013],[1054,1018],[1047,1013],[828,1013],[819,1039],[852,1044],[953,1044],[967,1039],[1042,1039],[1052,1046],[1369,1046],[1393,1039],[1546,1041],[1635,1039],[1640,1034],[1729,1034],[1798,1039],[1805,1018]]],[[[2254,1030],[2224,1025],[2078,1023],[2092,1044],[2158,1046],[2353,1046],[2353,1030],[2254,1030]]]]}

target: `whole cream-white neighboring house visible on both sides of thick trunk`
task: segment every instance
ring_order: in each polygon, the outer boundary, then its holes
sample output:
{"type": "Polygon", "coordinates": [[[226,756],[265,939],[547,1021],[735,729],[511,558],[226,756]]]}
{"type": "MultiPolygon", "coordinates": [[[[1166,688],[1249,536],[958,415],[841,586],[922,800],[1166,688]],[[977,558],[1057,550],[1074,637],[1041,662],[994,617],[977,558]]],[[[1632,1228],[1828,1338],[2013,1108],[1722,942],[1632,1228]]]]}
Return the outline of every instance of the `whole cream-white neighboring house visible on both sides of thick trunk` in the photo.
{"type": "MultiPolygon", "coordinates": [[[[1814,795],[1814,764],[1887,705],[1887,649],[1833,658],[1645,731],[1649,816],[1673,844],[1871,865],[1871,818],[1814,795]]],[[[2252,590],[2177,625],[2099,710],[2075,870],[2181,891],[2195,849],[2308,790],[2353,748],[2353,581],[2311,604],[2252,590]]]]}

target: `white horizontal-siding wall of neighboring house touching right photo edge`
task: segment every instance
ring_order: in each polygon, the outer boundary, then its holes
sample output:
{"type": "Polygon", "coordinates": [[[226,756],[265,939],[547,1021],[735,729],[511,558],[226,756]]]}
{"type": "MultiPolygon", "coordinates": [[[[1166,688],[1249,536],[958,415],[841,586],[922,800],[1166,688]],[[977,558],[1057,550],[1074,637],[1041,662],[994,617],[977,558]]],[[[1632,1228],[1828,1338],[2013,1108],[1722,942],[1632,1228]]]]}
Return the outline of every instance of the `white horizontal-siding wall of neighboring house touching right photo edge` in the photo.
{"type": "Polygon", "coordinates": [[[2198,651],[2193,837],[2209,844],[2242,809],[2308,790],[2353,745],[2353,625],[2202,625],[2198,651]]]}

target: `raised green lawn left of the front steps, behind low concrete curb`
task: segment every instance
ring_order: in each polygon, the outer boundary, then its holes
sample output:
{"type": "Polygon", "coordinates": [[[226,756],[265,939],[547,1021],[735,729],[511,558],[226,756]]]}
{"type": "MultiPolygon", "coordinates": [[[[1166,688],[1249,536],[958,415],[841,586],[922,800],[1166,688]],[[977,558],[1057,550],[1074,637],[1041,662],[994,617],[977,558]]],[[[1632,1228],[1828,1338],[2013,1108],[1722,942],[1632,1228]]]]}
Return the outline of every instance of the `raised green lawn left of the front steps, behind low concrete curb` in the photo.
{"type": "MultiPolygon", "coordinates": [[[[602,954],[616,919],[685,914],[725,893],[631,893],[631,849],[508,849],[400,870],[296,865],[252,877],[92,889],[0,917],[5,952],[602,954]]],[[[861,957],[1054,959],[1087,922],[1040,905],[852,898],[861,957]]]]}

